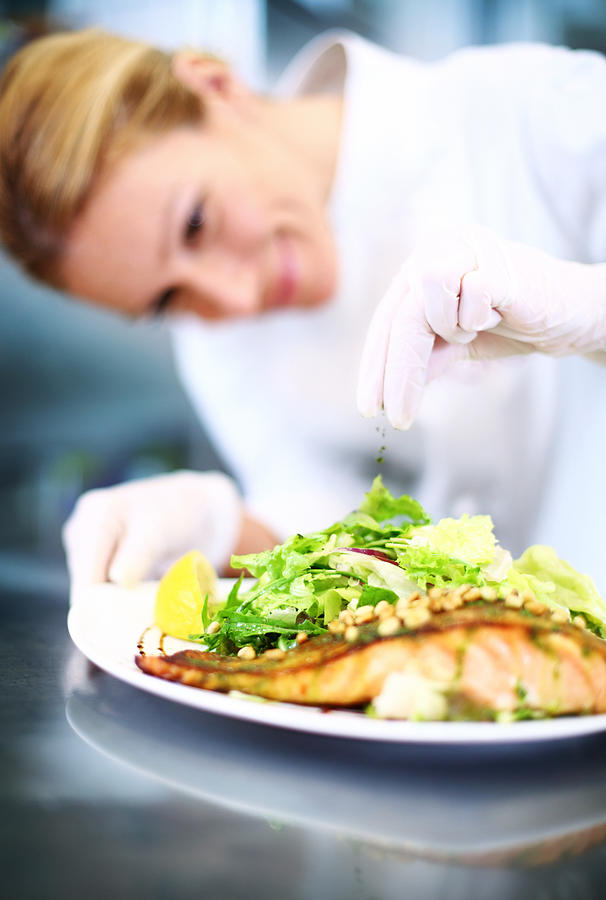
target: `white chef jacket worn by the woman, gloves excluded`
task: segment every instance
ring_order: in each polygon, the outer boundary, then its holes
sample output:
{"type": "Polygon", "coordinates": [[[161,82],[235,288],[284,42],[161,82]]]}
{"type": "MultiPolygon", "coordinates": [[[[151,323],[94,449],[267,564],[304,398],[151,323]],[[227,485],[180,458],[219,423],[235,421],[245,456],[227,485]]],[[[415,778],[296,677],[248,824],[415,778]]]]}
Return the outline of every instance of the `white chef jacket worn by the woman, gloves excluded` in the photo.
{"type": "MultiPolygon", "coordinates": [[[[459,364],[427,387],[407,432],[360,417],[357,369],[372,312],[427,227],[477,222],[555,256],[605,258],[604,59],[518,44],[420,63],[328,34],[280,90],[344,96],[329,209],[338,293],[316,310],[172,326],[185,388],[249,508],[282,535],[325,527],[382,472],[434,518],[491,514],[514,553],[547,542],[561,361],[459,364]]],[[[606,373],[585,365],[603,395],[606,373]]]]}

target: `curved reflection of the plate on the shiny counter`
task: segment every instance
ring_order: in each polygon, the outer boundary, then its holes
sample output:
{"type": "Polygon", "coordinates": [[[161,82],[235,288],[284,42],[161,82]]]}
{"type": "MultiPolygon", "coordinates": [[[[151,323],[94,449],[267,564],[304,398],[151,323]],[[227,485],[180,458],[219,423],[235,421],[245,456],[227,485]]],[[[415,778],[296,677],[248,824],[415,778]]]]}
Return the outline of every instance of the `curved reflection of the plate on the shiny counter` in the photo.
{"type": "Polygon", "coordinates": [[[532,866],[606,839],[603,737],[537,749],[302,736],[167,703],[88,666],[72,673],[66,714],[99,752],[190,796],[390,855],[532,866]],[[579,752],[582,767],[562,767],[579,752]]]}

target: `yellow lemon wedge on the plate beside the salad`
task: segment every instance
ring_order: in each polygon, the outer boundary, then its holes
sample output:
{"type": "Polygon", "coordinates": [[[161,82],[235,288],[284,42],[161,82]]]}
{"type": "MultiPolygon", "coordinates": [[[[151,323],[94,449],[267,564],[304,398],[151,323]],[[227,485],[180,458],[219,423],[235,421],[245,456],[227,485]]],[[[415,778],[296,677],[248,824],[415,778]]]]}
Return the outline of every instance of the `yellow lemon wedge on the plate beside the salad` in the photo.
{"type": "Polygon", "coordinates": [[[217,573],[199,550],[191,550],[170,567],[158,585],[154,621],[171,637],[187,640],[202,632],[202,607],[217,606],[217,573]]]}

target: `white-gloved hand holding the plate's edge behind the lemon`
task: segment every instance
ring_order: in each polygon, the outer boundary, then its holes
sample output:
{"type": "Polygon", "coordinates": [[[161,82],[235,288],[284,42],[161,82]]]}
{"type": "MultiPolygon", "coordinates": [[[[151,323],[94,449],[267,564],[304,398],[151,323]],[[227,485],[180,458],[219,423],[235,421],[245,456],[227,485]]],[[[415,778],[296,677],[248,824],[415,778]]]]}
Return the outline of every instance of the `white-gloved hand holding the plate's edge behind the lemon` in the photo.
{"type": "Polygon", "coordinates": [[[236,485],[220,472],[175,472],[83,494],[63,528],[74,589],[104,581],[132,587],[201,550],[221,568],[242,525],[236,485]]]}

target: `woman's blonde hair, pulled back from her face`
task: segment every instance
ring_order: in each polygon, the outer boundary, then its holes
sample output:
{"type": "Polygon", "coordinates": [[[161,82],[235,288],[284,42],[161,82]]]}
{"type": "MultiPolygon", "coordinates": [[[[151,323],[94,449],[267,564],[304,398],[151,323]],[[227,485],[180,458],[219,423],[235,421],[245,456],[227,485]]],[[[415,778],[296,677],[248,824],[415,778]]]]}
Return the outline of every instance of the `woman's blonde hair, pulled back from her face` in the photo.
{"type": "Polygon", "coordinates": [[[60,287],[67,233],[101,171],[153,134],[201,121],[172,57],[98,29],[28,44],[0,78],[0,241],[60,287]]]}

